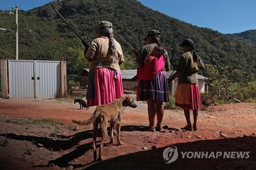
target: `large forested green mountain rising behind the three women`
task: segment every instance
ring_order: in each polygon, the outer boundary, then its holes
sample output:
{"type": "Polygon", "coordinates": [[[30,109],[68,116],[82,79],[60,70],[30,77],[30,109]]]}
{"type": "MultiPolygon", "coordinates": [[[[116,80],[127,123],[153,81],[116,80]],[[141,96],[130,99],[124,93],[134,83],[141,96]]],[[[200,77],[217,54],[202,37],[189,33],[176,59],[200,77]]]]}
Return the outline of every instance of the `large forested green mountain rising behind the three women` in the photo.
{"type": "MultiPolygon", "coordinates": [[[[88,43],[95,37],[96,23],[109,20],[113,23],[115,38],[122,45],[125,55],[123,69],[135,69],[131,48],[136,50],[145,44],[148,31],[159,30],[161,41],[176,68],[182,53],[178,46],[184,38],[195,41],[196,51],[204,63],[229,66],[230,70],[246,70],[249,77],[256,77],[256,47],[236,38],[207,28],[200,28],[169,17],[158,11],[130,0],[62,0],[29,11],[18,11],[19,59],[66,60],[68,74],[78,74],[82,66],[79,59],[83,46],[80,39],[57,15],[54,9],[70,23],[88,43]],[[78,66],[77,66],[78,65],[78,66]]],[[[0,28],[15,30],[15,16],[9,11],[0,11],[0,28]]],[[[0,58],[15,59],[15,33],[0,34],[0,58]]],[[[205,75],[205,71],[200,73],[205,75]]]]}

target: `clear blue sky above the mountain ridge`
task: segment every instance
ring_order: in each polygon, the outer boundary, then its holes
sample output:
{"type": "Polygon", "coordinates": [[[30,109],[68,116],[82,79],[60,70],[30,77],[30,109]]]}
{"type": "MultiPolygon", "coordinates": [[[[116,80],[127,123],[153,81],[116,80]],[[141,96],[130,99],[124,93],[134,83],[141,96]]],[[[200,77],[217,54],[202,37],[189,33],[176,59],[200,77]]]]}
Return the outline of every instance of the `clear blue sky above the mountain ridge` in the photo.
{"type": "MultiPolygon", "coordinates": [[[[104,0],[102,0],[104,1],[104,0]]],[[[126,0],[124,0],[126,1],[126,0]]],[[[220,33],[240,33],[256,29],[255,0],[138,0],[144,6],[170,17],[220,33]]],[[[53,0],[0,0],[0,10],[30,10],[53,0]]]]}

